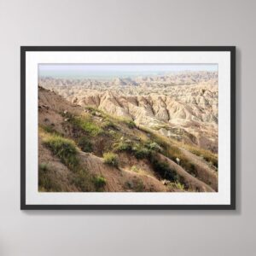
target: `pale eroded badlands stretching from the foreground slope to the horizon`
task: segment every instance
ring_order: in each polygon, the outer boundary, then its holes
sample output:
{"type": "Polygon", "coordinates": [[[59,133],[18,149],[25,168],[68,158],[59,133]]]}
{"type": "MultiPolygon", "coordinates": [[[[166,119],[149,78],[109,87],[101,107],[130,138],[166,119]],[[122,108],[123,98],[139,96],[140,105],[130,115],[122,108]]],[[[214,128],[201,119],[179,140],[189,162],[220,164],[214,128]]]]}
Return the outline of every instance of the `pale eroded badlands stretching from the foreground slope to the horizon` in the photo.
{"type": "Polygon", "coordinates": [[[128,79],[115,79],[114,85],[112,81],[86,85],[67,79],[43,79],[40,84],[80,106],[99,108],[160,135],[218,153],[218,85],[215,73],[210,74],[156,77],[151,82],[138,78],[137,85],[128,79]],[[170,79],[183,85],[174,86],[170,79]]]}

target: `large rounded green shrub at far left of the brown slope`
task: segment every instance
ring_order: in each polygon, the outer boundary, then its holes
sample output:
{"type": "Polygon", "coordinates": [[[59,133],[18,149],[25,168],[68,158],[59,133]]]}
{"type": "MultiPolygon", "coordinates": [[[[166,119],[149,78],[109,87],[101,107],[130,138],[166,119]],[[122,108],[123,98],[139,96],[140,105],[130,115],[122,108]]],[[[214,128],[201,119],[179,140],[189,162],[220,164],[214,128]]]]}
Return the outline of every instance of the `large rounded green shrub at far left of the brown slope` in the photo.
{"type": "Polygon", "coordinates": [[[70,169],[79,166],[77,148],[72,140],[53,135],[44,139],[44,144],[53,154],[61,159],[61,162],[70,169]]]}

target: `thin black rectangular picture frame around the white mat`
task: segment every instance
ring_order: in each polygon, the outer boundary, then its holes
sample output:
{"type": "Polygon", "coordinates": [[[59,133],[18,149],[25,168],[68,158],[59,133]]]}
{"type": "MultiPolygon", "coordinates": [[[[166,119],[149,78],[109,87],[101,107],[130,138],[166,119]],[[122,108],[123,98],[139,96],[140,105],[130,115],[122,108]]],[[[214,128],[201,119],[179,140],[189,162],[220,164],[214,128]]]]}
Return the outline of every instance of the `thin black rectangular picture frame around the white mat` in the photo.
{"type": "Polygon", "coordinates": [[[21,46],[20,47],[21,210],[235,210],[236,46],[21,46]],[[29,205],[26,204],[26,52],[28,51],[228,51],[230,52],[230,205],[29,205]]]}

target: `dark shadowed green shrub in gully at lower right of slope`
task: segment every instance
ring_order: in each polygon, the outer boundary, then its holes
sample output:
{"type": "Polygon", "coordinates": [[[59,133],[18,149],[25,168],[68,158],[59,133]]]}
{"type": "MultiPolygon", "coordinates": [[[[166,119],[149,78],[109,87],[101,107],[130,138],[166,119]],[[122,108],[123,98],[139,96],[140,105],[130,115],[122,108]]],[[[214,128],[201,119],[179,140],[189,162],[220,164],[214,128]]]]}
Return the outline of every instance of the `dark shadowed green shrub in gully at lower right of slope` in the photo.
{"type": "Polygon", "coordinates": [[[159,173],[160,177],[166,178],[172,182],[178,180],[177,173],[174,172],[166,162],[162,162],[156,158],[153,158],[151,161],[154,171],[159,173]]]}

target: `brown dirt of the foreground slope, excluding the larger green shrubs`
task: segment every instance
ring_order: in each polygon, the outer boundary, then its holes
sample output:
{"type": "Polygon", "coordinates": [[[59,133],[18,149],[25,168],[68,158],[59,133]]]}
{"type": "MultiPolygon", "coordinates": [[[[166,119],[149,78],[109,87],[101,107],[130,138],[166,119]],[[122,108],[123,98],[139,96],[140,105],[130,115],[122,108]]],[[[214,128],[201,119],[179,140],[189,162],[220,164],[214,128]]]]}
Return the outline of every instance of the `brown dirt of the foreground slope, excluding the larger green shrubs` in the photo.
{"type": "MultiPolygon", "coordinates": [[[[200,157],[183,148],[181,149],[183,154],[196,166],[197,177],[193,177],[182,166],[178,166],[173,160],[158,153],[159,160],[166,162],[170,170],[177,173],[178,177],[180,177],[179,182],[182,183],[179,187],[173,181],[171,182],[172,186],[169,185],[170,182],[167,183],[165,177],[161,177],[160,173],[155,172],[150,158],[137,159],[135,154],[129,150],[127,152],[119,152],[114,149],[117,144],[119,145],[119,143],[124,143],[128,140],[134,145],[140,145],[140,147],[143,145],[144,147],[143,143],[148,140],[149,136],[147,132],[111,117],[106,118],[102,113],[95,113],[94,110],[84,109],[77,104],[68,102],[53,91],[40,87],[38,91],[38,125],[39,130],[41,129],[38,148],[39,179],[41,177],[40,181],[43,184],[41,190],[52,191],[54,190],[50,187],[52,185],[58,191],[82,191],[81,187],[78,187],[73,182],[75,178],[79,177],[77,172],[70,169],[58,155],[47,147],[44,143],[44,136],[46,135],[67,138],[75,144],[79,166],[88,172],[90,177],[94,177],[94,179],[101,177],[104,180],[101,191],[166,192],[189,189],[189,191],[214,192],[214,190],[218,189],[216,172],[207,166],[200,157]],[[86,117],[90,117],[92,124],[102,129],[102,133],[91,135],[89,131],[82,131],[81,128],[71,122],[71,117],[80,117],[84,116],[84,114],[86,117]],[[110,126],[103,126],[107,121],[110,126]],[[112,124],[113,122],[114,124],[112,124]],[[81,138],[86,138],[90,141],[90,153],[82,151],[79,146],[79,139],[81,138]],[[118,154],[119,166],[109,166],[104,163],[102,155],[106,150],[112,150],[118,154]],[[44,167],[45,165],[47,168],[44,167]],[[182,185],[185,187],[183,188],[182,185]]],[[[95,126],[91,127],[94,128],[95,126]]],[[[90,129],[92,129],[91,127],[89,126],[90,129]]],[[[86,126],[85,128],[87,129],[88,127],[86,126]]],[[[151,140],[152,138],[149,137],[149,139],[151,140]]],[[[144,151],[146,149],[142,148],[144,151]]]]}

